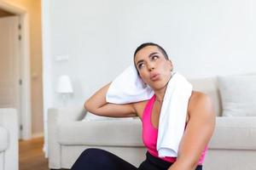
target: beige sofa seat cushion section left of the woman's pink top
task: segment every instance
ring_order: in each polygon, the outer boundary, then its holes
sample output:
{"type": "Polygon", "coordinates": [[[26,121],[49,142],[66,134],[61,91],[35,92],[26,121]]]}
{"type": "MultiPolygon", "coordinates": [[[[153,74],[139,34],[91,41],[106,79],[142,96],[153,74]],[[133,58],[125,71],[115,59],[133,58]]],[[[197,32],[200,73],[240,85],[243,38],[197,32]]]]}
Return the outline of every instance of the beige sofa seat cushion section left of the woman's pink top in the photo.
{"type": "Polygon", "coordinates": [[[61,123],[56,135],[60,144],[143,146],[140,119],[61,123]]]}

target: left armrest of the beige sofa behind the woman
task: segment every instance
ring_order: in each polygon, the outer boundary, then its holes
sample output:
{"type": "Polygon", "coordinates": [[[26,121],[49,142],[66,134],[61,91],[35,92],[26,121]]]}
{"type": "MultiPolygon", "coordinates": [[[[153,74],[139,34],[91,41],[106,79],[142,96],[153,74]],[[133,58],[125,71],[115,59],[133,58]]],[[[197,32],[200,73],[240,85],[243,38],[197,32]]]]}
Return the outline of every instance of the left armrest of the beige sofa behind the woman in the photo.
{"type": "Polygon", "coordinates": [[[57,127],[60,124],[80,121],[86,114],[83,106],[70,106],[48,110],[49,167],[61,168],[61,145],[57,142],[57,127]]]}

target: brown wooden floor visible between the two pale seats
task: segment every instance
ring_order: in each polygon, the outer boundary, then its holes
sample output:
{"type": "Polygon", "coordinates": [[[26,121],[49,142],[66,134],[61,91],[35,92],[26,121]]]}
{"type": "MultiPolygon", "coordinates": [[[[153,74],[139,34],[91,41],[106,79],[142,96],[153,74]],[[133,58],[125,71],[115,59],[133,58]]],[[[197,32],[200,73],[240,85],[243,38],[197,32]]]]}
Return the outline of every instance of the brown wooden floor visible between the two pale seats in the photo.
{"type": "Polygon", "coordinates": [[[43,138],[19,142],[20,170],[49,170],[48,161],[44,158],[43,145],[43,138]]]}

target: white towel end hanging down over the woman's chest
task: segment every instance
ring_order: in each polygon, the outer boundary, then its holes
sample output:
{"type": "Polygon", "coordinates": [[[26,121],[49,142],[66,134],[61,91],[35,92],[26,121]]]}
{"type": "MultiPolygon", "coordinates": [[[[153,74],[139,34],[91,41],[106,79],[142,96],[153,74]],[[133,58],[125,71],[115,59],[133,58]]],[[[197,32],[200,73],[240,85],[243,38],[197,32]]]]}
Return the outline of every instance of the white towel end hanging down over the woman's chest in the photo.
{"type": "Polygon", "coordinates": [[[186,123],[192,85],[176,72],[168,82],[160,111],[157,150],[160,157],[177,157],[186,123]]]}

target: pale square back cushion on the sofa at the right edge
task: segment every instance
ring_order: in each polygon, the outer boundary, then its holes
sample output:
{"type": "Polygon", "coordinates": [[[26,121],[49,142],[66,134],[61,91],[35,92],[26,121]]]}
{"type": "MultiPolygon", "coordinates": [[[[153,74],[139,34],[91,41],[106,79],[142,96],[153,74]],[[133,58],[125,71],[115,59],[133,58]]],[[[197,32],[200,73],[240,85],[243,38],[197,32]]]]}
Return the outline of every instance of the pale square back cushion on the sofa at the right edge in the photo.
{"type": "Polygon", "coordinates": [[[223,116],[256,116],[256,75],[218,77],[223,116]]]}

